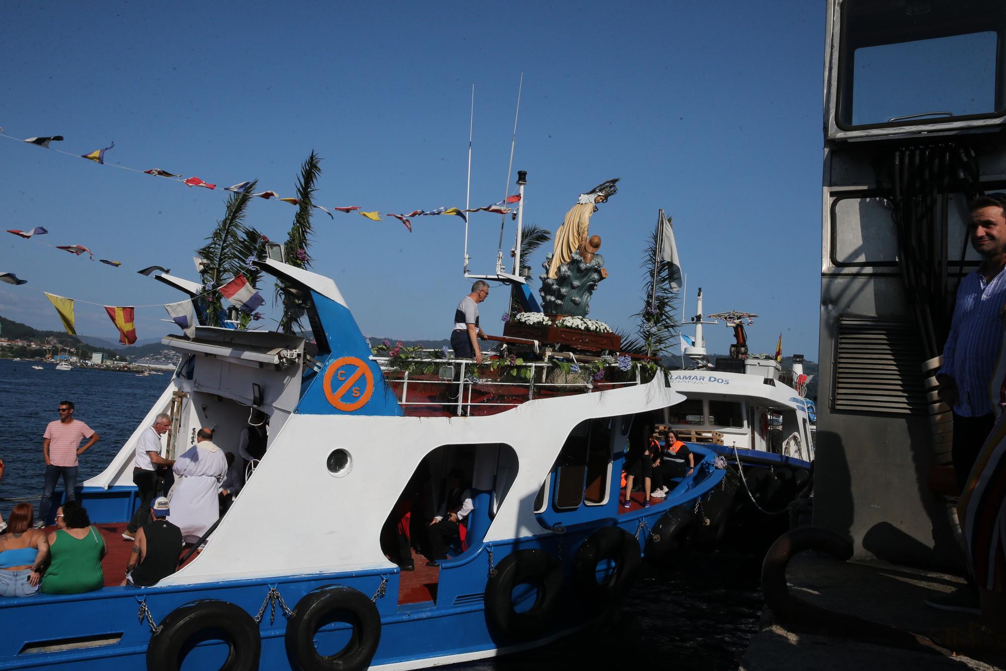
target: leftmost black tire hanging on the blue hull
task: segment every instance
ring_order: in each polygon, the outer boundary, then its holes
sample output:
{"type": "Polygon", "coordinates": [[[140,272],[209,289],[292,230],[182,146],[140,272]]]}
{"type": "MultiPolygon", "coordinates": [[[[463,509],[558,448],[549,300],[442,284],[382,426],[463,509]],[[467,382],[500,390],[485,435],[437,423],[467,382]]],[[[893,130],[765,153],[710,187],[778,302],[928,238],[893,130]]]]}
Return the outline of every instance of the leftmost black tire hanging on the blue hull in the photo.
{"type": "Polygon", "coordinates": [[[259,668],[262,638],[259,625],[243,609],[204,598],[175,609],[162,622],[147,646],[147,668],[177,671],[186,653],[200,641],[221,640],[228,648],[225,671],[259,668]]]}

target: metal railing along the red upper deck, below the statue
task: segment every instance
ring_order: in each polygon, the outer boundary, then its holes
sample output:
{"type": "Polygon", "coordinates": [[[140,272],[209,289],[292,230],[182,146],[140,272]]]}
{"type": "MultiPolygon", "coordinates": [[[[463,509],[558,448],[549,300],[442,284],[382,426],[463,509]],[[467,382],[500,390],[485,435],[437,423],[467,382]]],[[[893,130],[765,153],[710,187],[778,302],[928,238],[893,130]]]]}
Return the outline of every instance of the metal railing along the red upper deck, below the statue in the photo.
{"type": "MultiPolygon", "coordinates": [[[[421,350],[418,352],[439,354],[441,351],[421,350]]],[[[604,378],[595,380],[590,374],[567,372],[562,376],[564,379],[549,381],[549,376],[561,369],[557,369],[548,361],[503,364],[501,367],[489,371],[490,374],[496,376],[495,378],[487,378],[479,377],[480,374],[486,372],[486,363],[478,365],[474,359],[443,357],[418,359],[415,360],[416,366],[412,370],[403,370],[393,366],[388,357],[371,356],[370,359],[376,362],[384,373],[385,380],[394,390],[395,398],[399,405],[405,409],[406,414],[410,408],[422,409],[423,407],[450,409],[452,414],[459,416],[492,414],[484,411],[472,411],[474,408],[499,408],[497,411],[502,412],[506,408],[517,407],[536,398],[585,394],[636,386],[644,382],[639,367],[626,376],[618,364],[603,366],[601,370],[605,371],[606,375],[609,370],[619,371],[623,377],[621,380],[605,380],[604,378]],[[437,369],[435,373],[423,373],[415,370],[417,368],[429,369],[431,366],[437,369]],[[416,387],[420,385],[425,389],[422,392],[416,392],[416,387]],[[440,390],[435,398],[431,398],[429,395],[430,385],[440,390]],[[492,393],[494,388],[500,390],[500,393],[492,393]],[[521,391],[517,392],[516,390],[521,391]],[[452,391],[455,394],[452,394],[452,391]],[[477,391],[483,393],[476,395],[477,391]]]]}

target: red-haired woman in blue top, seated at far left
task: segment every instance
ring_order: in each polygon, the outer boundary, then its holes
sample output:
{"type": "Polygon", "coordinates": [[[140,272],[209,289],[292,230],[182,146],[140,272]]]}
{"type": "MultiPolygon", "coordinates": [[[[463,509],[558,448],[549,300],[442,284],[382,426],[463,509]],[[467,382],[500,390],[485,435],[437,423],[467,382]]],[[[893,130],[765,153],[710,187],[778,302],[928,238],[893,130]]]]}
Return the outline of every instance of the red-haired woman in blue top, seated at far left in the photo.
{"type": "Polygon", "coordinates": [[[19,503],[7,518],[7,533],[0,536],[0,596],[33,596],[38,593],[39,567],[49,557],[45,532],[32,529],[35,511],[19,503]]]}

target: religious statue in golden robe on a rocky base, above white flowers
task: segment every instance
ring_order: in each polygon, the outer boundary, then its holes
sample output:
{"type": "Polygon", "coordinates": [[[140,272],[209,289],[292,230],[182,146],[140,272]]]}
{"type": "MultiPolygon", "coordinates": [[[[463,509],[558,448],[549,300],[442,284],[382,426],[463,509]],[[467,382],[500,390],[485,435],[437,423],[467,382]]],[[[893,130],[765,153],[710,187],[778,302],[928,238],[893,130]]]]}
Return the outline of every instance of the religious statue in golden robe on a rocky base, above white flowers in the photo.
{"type": "Polygon", "coordinates": [[[555,247],[547,255],[541,274],[541,309],[545,314],[585,316],[591,311],[591,296],[598,282],[608,277],[605,258],[598,254],[601,236],[591,235],[591,216],[598,212],[597,204],[605,203],[618,192],[609,179],[580,193],[565,221],[555,234],[555,247]]]}

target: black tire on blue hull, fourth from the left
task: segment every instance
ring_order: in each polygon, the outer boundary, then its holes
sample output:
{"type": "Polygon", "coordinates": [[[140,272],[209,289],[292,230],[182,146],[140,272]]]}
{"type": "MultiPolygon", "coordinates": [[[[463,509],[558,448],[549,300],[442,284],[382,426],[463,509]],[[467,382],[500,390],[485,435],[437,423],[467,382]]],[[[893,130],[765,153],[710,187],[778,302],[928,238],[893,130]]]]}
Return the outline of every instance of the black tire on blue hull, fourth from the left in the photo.
{"type": "Polygon", "coordinates": [[[639,542],[632,534],[614,526],[602,527],[576,550],[573,578],[584,600],[610,606],[629,588],[639,563],[639,542]],[[612,561],[614,568],[608,578],[599,582],[598,564],[605,560],[612,561]]]}

